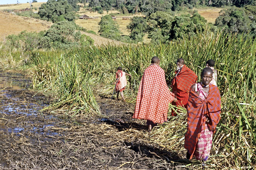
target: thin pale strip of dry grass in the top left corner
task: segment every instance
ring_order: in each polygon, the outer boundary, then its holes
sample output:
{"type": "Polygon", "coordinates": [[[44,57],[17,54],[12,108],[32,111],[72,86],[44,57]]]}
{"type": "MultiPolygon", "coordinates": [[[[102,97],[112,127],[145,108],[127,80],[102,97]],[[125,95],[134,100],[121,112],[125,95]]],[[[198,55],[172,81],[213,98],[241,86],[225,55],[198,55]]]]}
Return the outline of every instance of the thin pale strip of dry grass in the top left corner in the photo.
{"type": "MultiPolygon", "coordinates": [[[[45,0],[47,1],[47,0],[45,0]]],[[[41,7],[42,4],[44,4],[46,2],[35,2],[32,3],[33,8],[38,8],[41,7]]],[[[0,5],[0,10],[6,10],[6,9],[11,9],[11,10],[20,10],[20,9],[26,9],[26,8],[30,8],[29,3],[23,3],[23,4],[8,4],[8,5],[0,5]]]]}

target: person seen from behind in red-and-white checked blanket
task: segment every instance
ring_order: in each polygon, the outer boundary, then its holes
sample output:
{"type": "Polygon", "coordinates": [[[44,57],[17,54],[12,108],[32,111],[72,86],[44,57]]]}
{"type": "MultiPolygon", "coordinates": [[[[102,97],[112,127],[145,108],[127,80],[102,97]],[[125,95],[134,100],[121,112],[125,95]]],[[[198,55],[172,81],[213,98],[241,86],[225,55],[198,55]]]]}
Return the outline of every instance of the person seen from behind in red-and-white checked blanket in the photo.
{"type": "Polygon", "coordinates": [[[157,123],[167,120],[168,105],[174,100],[174,94],[170,92],[165,81],[165,71],[159,63],[159,58],[155,56],[151,59],[151,65],[145,70],[132,117],[147,120],[150,132],[157,123]]]}

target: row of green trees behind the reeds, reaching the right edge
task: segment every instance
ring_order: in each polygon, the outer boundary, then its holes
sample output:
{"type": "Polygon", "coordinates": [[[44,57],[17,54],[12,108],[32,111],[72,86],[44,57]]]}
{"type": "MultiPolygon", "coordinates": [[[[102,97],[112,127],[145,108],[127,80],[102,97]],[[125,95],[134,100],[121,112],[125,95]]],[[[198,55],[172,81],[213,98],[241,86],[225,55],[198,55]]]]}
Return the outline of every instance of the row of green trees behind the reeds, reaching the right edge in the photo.
{"type": "Polygon", "coordinates": [[[135,16],[127,26],[130,36],[121,36],[118,24],[110,15],[102,17],[99,34],[105,38],[129,42],[142,42],[145,34],[153,43],[182,39],[184,36],[225,31],[231,34],[248,34],[256,38],[256,8],[252,5],[223,9],[215,23],[194,11],[192,15],[174,15],[172,12],[157,11],[146,17],[135,16]]]}

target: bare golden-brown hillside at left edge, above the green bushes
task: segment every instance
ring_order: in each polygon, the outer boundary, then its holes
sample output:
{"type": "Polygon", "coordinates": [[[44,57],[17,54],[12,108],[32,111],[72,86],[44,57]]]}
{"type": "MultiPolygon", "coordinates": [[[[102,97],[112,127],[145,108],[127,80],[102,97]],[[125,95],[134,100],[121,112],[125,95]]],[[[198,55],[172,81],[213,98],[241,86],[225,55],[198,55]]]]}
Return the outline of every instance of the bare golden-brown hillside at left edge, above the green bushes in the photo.
{"type": "Polygon", "coordinates": [[[25,30],[28,32],[48,30],[50,26],[52,26],[51,22],[0,11],[0,40],[4,40],[10,34],[17,35],[25,30]]]}

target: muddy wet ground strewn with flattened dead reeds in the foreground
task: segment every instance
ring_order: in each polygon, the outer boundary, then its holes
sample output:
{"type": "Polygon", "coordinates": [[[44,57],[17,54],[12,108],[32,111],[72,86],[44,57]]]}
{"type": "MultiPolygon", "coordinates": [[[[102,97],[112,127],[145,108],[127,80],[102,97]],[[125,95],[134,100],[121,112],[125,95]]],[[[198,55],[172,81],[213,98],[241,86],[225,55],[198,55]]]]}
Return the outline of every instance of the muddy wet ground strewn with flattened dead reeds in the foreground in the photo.
{"type": "Polygon", "coordinates": [[[0,169],[181,169],[182,154],[154,143],[134,105],[98,97],[106,117],[71,120],[39,110],[49,104],[30,80],[0,72],[0,169]]]}

